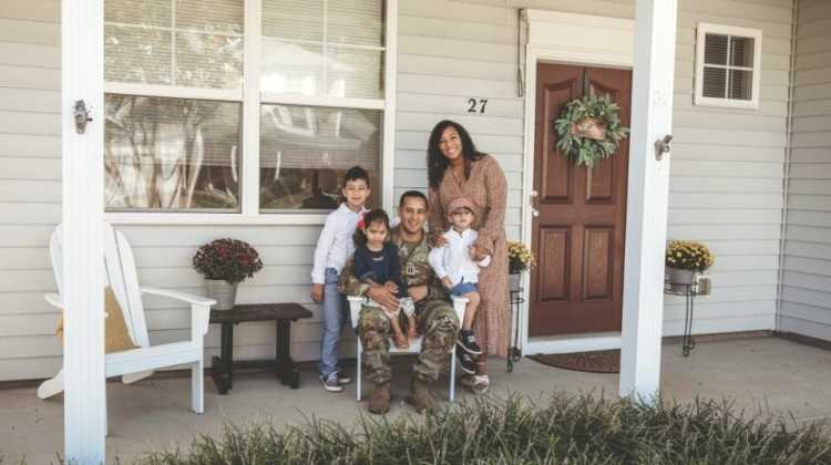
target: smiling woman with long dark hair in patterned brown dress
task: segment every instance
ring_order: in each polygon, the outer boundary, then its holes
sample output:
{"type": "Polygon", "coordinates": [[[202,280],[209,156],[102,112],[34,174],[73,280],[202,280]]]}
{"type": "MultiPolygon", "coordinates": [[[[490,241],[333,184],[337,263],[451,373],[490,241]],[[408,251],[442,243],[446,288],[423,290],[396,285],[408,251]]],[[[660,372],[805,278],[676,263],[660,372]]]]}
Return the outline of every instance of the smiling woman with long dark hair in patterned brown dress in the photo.
{"type": "Polygon", "coordinates": [[[479,230],[474,259],[491,256],[491,266],[479,275],[481,303],[473,322],[483,354],[476,375],[462,382],[484,392],[490,384],[488,354],[507,356],[507,240],[505,238],[505,174],[496,159],[476,152],[473,141],[459,123],[442,121],[433,127],[428,145],[430,184],[430,234],[433,244],[442,245],[441,232],[448,229],[448,207],[456,197],[466,197],[476,211],[473,228],[479,230]]]}

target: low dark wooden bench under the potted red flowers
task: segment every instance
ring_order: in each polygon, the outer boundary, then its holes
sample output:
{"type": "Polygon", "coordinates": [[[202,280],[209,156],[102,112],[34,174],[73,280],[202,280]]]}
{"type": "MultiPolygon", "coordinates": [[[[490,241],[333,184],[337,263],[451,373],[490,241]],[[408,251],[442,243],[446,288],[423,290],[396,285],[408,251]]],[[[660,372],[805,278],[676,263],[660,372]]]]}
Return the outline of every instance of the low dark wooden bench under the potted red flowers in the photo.
{"type": "Polygon", "coordinates": [[[300,372],[291,360],[291,322],[311,318],[311,312],[299,303],[252,303],[235,306],[232,310],[211,310],[211,322],[222,324],[219,356],[212,360],[211,376],[219,390],[227,394],[234,384],[235,369],[273,369],[283,384],[300,386],[300,372]],[[248,321],[275,321],[277,341],[274,360],[234,361],[234,326],[248,321]]]}

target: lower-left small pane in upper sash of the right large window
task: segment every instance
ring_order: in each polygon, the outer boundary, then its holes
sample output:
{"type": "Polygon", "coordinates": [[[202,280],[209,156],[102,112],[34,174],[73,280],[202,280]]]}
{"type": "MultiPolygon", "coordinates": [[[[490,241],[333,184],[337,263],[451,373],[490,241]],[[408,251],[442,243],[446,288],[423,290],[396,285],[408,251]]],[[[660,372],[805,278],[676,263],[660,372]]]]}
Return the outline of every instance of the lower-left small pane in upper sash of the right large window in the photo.
{"type": "Polygon", "coordinates": [[[263,92],[319,95],[324,85],[324,48],[319,44],[291,43],[279,39],[263,40],[263,92]]]}

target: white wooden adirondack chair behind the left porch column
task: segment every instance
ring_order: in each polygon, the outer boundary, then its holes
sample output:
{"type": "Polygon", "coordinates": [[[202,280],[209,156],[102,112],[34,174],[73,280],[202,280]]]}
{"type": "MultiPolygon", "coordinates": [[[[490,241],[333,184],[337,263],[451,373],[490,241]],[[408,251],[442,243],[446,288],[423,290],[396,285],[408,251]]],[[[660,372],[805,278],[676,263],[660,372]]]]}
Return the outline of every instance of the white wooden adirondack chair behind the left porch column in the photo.
{"type": "MultiPolygon", "coordinates": [[[[137,349],[105,355],[106,376],[122,376],[125,384],[134,383],[150,376],[154,370],[174,366],[191,366],[191,409],[196,413],[205,410],[203,337],[208,330],[213,299],[192,296],[184,292],[140,288],[135,272],[135,261],[130,242],[123,234],[104,223],[104,273],[122,311],[124,321],[137,349]],[[144,318],[142,294],[161,296],[191,304],[191,339],[182,342],[151,345],[147,338],[147,324],[144,318]]],[[[52,256],[58,291],[63,293],[63,235],[58,225],[49,244],[52,256]]],[[[63,309],[60,293],[49,293],[45,299],[52,306],[63,309]]],[[[69,310],[70,312],[72,309],[69,310]]],[[[71,318],[71,316],[70,316],[71,318]]],[[[103,348],[102,348],[103,350],[103,348]]],[[[48,399],[63,391],[63,369],[58,374],[41,383],[38,396],[48,399]]],[[[104,410],[106,412],[106,410],[104,410]]],[[[105,413],[106,414],[106,413],[105,413]]]]}

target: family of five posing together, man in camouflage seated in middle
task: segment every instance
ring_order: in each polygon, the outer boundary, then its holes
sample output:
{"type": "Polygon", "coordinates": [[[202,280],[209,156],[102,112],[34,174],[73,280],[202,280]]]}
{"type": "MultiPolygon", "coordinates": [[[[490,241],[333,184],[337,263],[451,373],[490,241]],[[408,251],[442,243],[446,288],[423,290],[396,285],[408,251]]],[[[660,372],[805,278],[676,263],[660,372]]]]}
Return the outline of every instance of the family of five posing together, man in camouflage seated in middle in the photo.
{"type": "Polygon", "coordinates": [[[351,379],[338,364],[345,296],[362,296],[358,337],[375,389],[369,411],[390,409],[390,340],[404,349],[423,337],[407,397],[418,412],[433,405],[429,384],[458,345],[461,382],[473,392],[490,385],[486,356],[507,352],[507,247],[505,176],[496,159],[478,152],[460,124],[442,121],[428,142],[429,193],[408,190],[398,225],[370,209],[370,179],[355,166],[343,176],[342,203],[320,232],[311,271],[311,298],[324,304],[319,375],[327,391],[351,379]],[[459,321],[450,296],[466,298],[459,321]]]}

